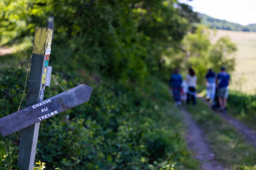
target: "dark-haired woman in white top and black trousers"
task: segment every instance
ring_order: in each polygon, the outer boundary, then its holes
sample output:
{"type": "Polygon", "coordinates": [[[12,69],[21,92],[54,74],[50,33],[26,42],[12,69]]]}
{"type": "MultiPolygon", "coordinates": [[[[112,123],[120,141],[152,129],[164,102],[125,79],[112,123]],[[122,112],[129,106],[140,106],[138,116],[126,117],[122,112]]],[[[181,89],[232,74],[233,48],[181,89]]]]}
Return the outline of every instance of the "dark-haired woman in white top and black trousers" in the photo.
{"type": "Polygon", "coordinates": [[[190,100],[192,100],[193,105],[196,105],[197,76],[192,68],[189,68],[189,74],[186,75],[186,82],[188,84],[186,103],[189,104],[190,100]]]}

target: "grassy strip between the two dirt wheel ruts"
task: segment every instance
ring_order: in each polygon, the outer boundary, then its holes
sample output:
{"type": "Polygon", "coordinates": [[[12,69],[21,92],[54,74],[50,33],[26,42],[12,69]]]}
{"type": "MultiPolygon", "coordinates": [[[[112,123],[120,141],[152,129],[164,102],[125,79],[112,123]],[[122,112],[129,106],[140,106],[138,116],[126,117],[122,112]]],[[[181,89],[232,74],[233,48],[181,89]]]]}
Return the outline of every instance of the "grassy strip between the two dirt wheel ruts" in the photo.
{"type": "Polygon", "coordinates": [[[217,160],[230,169],[256,169],[254,147],[247,143],[234,127],[200,99],[196,106],[187,106],[186,109],[204,129],[205,138],[217,160]]]}

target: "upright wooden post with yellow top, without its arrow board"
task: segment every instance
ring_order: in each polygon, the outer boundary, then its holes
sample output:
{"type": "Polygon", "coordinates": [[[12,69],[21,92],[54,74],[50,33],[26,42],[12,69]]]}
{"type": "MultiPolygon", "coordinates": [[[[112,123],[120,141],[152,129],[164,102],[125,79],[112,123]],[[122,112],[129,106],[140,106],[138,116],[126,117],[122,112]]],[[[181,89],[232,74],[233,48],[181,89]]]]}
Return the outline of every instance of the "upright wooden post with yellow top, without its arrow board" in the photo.
{"type": "MultiPolygon", "coordinates": [[[[45,89],[46,48],[50,49],[52,30],[50,28],[36,27],[35,40],[32,51],[29,85],[27,88],[26,107],[34,105],[43,98],[45,89]]],[[[47,64],[48,65],[48,64],[47,64]]],[[[18,166],[21,169],[33,169],[35,161],[36,143],[38,140],[40,122],[22,130],[21,144],[19,146],[18,166]]]]}

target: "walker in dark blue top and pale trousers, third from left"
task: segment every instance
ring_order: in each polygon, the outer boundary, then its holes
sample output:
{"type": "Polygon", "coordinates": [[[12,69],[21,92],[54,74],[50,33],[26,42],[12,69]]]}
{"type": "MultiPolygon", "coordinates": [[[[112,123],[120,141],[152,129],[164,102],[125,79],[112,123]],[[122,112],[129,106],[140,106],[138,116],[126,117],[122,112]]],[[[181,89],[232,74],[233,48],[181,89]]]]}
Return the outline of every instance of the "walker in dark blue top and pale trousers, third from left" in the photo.
{"type": "Polygon", "coordinates": [[[207,74],[205,75],[206,79],[206,99],[210,102],[214,101],[214,96],[216,92],[216,75],[212,69],[208,69],[207,74]]]}

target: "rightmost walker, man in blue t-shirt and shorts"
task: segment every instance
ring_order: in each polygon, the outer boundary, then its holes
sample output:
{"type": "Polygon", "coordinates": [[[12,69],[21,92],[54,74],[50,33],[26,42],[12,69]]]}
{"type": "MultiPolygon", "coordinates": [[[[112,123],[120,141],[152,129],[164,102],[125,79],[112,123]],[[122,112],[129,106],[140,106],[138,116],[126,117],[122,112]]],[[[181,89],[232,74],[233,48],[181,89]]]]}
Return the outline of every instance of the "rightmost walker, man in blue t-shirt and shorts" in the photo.
{"type": "Polygon", "coordinates": [[[229,86],[229,80],[230,76],[226,72],[226,68],[221,67],[221,72],[218,73],[216,81],[218,85],[217,97],[222,112],[226,111],[227,97],[229,96],[229,89],[227,88],[229,86]]]}

